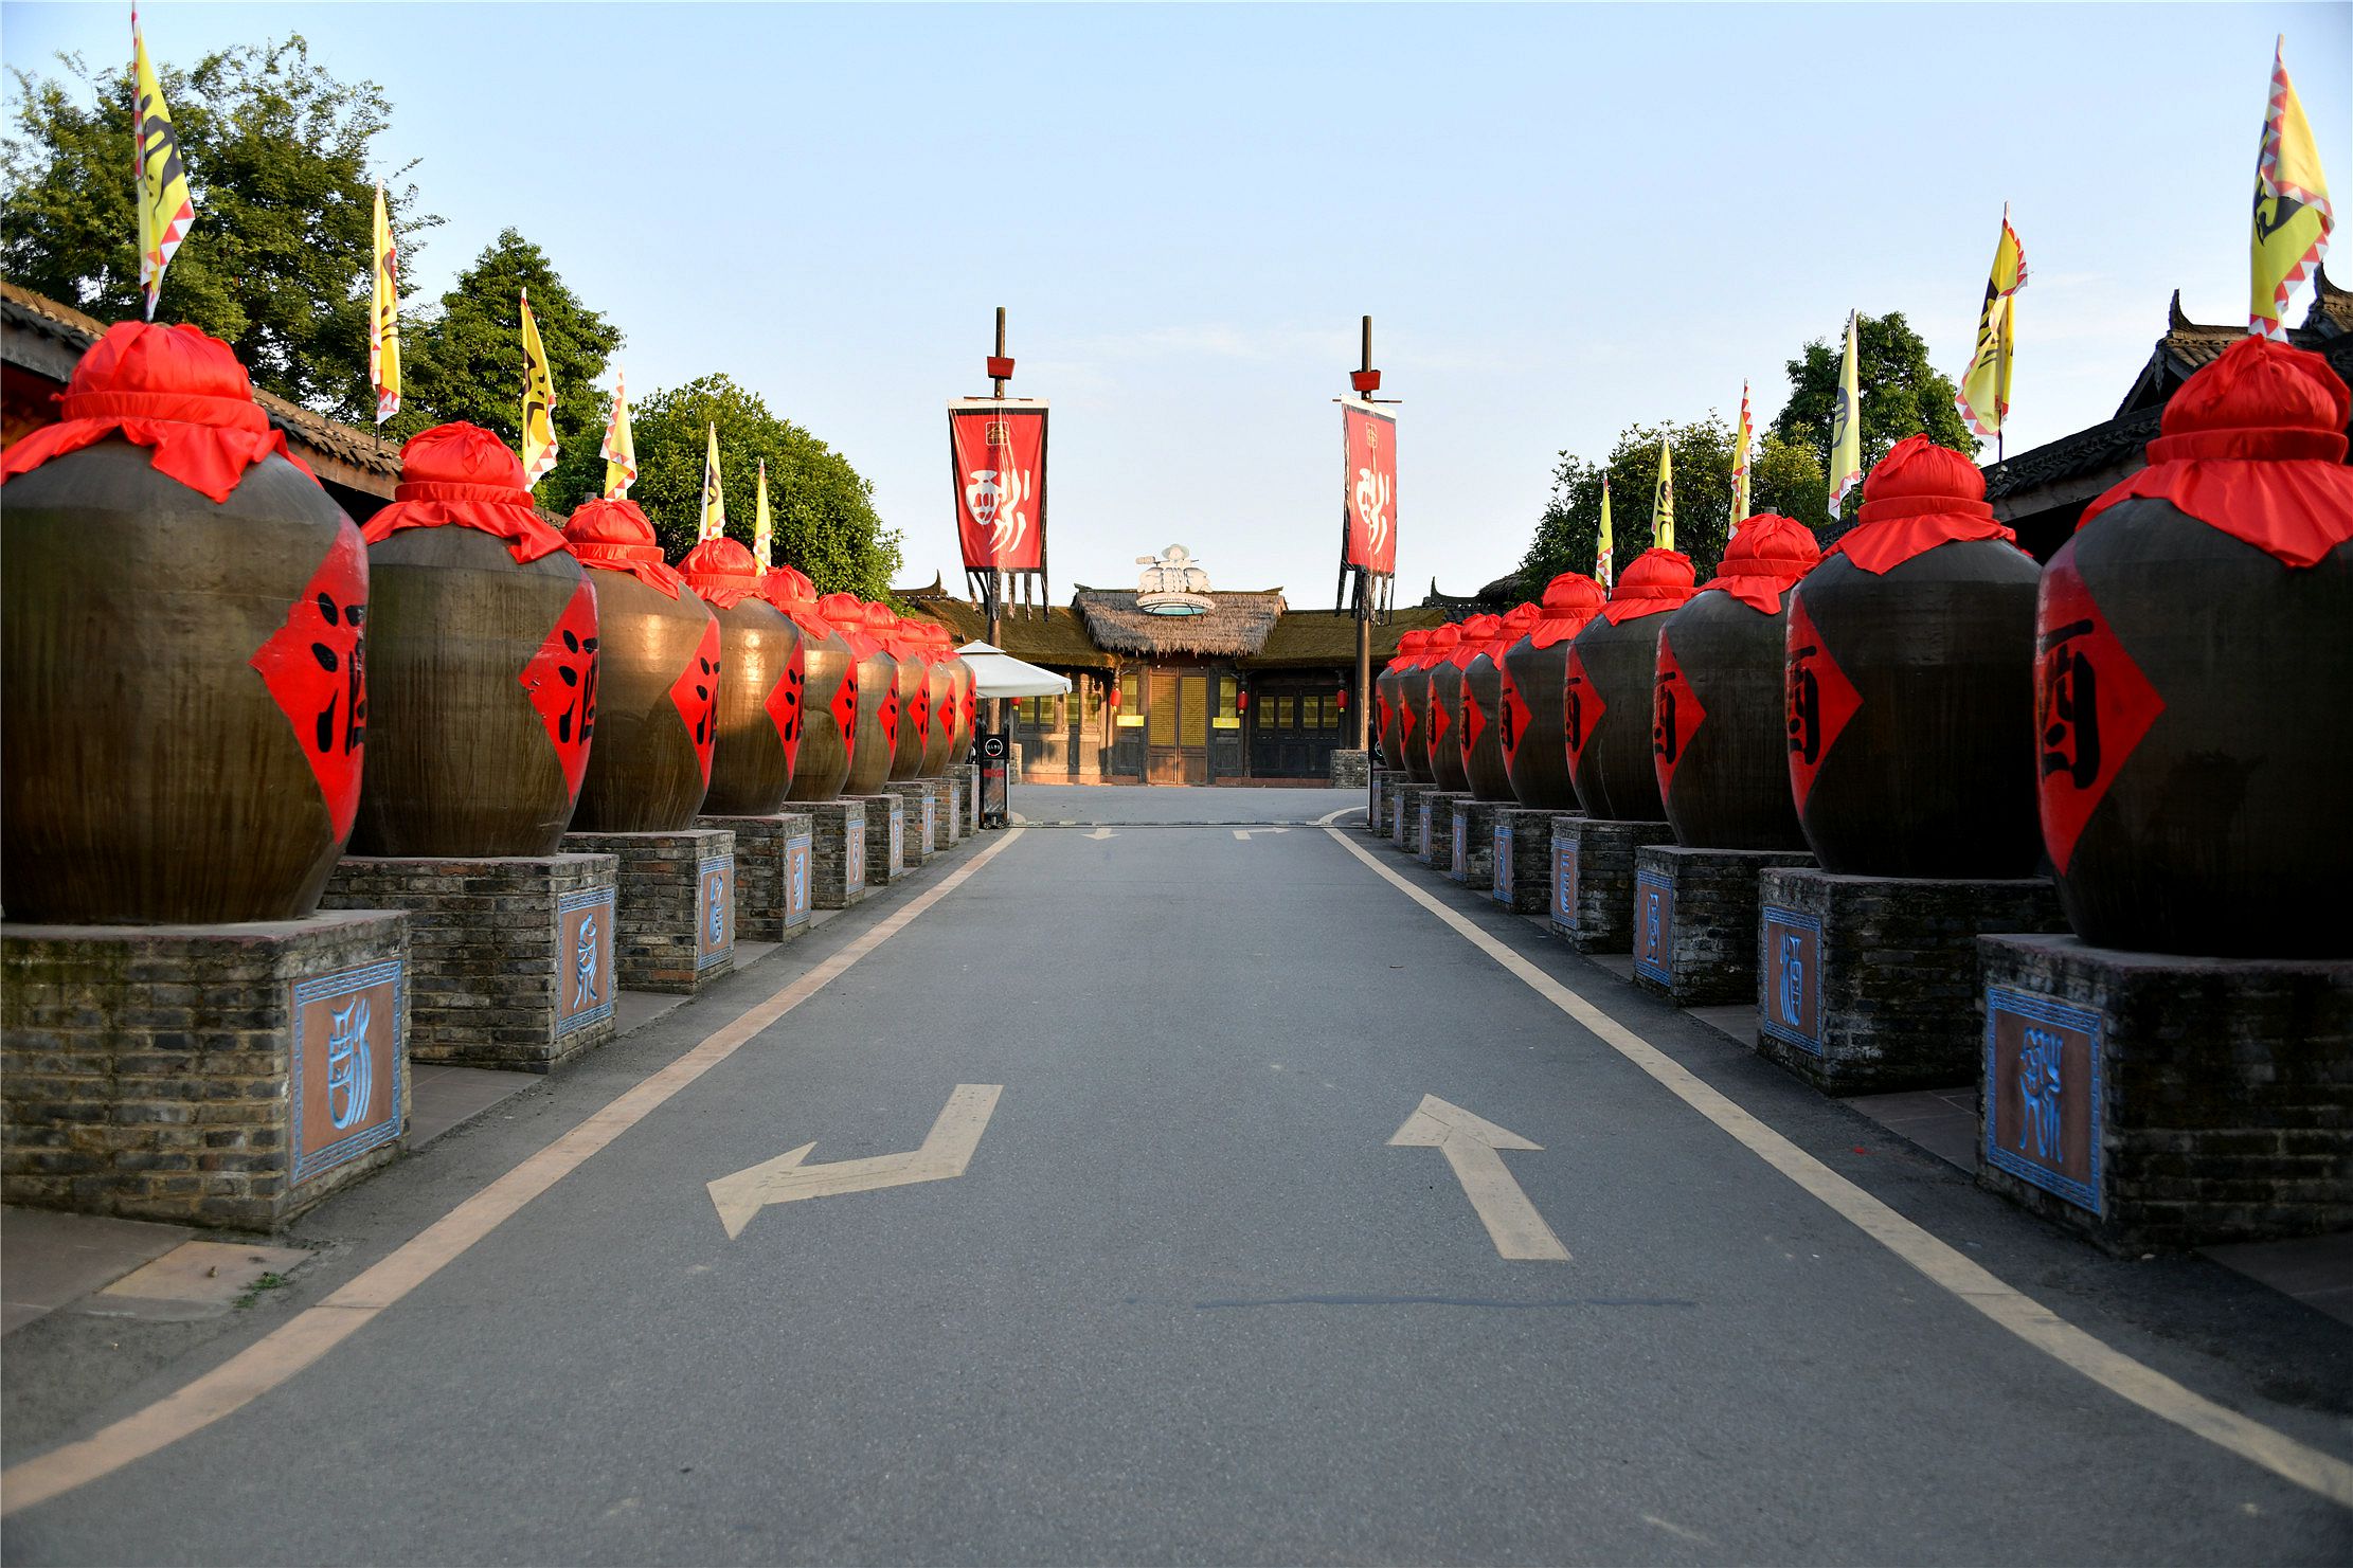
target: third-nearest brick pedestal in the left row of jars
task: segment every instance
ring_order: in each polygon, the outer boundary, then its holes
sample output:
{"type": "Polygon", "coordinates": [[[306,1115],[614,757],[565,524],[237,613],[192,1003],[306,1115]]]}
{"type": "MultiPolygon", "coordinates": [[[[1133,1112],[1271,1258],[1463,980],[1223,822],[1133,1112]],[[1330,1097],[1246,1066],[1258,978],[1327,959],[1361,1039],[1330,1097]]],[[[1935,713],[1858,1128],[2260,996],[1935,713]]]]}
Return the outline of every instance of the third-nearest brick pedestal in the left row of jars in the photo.
{"type": "Polygon", "coordinates": [[[624,990],[694,994],[734,971],[732,832],[567,832],[565,849],[621,860],[612,961],[624,990]]]}

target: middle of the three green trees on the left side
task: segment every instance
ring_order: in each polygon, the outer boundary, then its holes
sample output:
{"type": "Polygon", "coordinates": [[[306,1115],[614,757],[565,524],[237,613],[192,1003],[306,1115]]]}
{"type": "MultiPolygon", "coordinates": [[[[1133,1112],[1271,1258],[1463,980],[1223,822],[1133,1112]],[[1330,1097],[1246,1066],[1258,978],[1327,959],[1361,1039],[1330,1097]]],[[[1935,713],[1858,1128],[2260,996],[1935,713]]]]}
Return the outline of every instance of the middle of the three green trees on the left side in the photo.
{"type": "Polygon", "coordinates": [[[522,442],[522,292],[555,376],[555,470],[539,482],[539,498],[569,508],[605,484],[605,416],[612,395],[595,381],[621,346],[621,329],[581,303],[555,275],[546,252],[504,230],[475,256],[440,306],[409,327],[407,390],[400,416],[386,428],[407,440],[452,418],[496,430],[508,447],[522,442]]]}

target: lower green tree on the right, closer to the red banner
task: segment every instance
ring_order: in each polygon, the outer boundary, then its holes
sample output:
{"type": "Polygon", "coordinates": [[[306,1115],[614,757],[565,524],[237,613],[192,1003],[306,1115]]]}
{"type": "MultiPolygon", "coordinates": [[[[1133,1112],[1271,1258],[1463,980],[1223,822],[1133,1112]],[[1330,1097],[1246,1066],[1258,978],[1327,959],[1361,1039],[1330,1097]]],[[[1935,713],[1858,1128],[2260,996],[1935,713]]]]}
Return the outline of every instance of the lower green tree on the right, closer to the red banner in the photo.
{"type": "Polygon", "coordinates": [[[1520,581],[1544,592],[1562,571],[1593,571],[1602,527],[1602,475],[1609,475],[1612,562],[1624,571],[1652,543],[1649,510],[1659,484],[1659,442],[1675,458],[1675,548],[1692,557],[1699,581],[1715,574],[1732,522],[1732,428],[1720,414],[1678,425],[1628,425],[1607,463],[1569,451],[1553,468],[1553,496],[1537,522],[1537,538],[1520,562],[1520,581]]]}

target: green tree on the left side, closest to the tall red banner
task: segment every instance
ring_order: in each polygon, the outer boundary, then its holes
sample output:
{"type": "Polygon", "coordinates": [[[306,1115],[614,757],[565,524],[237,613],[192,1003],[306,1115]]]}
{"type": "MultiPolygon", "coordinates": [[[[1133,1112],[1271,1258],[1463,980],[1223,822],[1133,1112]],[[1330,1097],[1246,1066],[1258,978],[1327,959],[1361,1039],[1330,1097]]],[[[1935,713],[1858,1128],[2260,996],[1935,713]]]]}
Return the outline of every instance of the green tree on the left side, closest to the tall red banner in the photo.
{"type": "MultiPolygon", "coordinates": [[[[819,592],[889,595],[899,571],[899,531],[885,529],[875,515],[873,484],[849,458],[769,414],[755,393],[727,376],[654,393],[631,411],[638,482],[628,494],[654,522],[671,559],[694,548],[701,524],[708,425],[720,433],[729,538],[751,543],[758,475],[767,461],[774,559],[807,571],[819,592]]],[[[598,477],[602,482],[602,468],[598,477]]]]}

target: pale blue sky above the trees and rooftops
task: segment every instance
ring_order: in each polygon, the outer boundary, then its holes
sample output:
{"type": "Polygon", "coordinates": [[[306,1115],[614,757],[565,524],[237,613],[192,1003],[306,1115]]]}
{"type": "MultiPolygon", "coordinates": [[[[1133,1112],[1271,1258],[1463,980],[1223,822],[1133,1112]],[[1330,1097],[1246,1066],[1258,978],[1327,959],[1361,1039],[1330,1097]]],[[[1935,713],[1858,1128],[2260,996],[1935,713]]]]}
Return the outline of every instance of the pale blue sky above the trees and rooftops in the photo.
{"type": "MultiPolygon", "coordinates": [[[[1400,597],[1518,564],[1555,454],[1760,423],[1849,306],[1958,371],[2012,202],[2009,449],[2113,414],[2184,292],[2245,320],[2271,42],[2353,207],[2353,7],[141,7],[167,61],[301,31],[395,106],[438,294],[515,226],[628,334],[875,482],[901,581],[955,571],[951,395],[1054,400],[1052,564],[1327,604],[1339,414],[1374,315],[1400,597]]],[[[19,68],[127,7],[5,5],[19,68]]],[[[202,221],[202,216],[198,219],[202,221]]],[[[2344,240],[2353,247],[2353,237],[2344,240]]],[[[2353,249],[2346,252],[2353,273],[2353,249]]],[[[2301,306],[2299,306],[2301,310],[2301,306]]]]}

